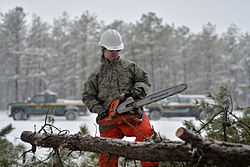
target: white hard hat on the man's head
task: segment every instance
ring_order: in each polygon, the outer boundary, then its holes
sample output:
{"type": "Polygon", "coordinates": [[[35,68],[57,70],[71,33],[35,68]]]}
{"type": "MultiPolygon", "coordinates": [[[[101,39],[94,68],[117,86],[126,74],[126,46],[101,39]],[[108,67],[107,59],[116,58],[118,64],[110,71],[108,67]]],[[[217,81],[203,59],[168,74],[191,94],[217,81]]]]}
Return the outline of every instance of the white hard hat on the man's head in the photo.
{"type": "Polygon", "coordinates": [[[102,33],[99,45],[105,47],[108,50],[124,49],[121,34],[113,29],[108,29],[102,33]]]}

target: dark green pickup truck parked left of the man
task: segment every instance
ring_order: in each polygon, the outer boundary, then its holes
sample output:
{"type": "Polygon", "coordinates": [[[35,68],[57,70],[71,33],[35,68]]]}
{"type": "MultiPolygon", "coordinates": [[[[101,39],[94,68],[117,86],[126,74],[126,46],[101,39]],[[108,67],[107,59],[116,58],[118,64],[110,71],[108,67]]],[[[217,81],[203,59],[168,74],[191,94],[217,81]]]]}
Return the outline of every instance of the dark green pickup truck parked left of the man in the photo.
{"type": "Polygon", "coordinates": [[[56,93],[45,91],[28,98],[25,102],[8,104],[8,115],[14,120],[27,120],[31,115],[65,116],[75,120],[87,115],[87,107],[80,100],[57,99],[56,93]]]}

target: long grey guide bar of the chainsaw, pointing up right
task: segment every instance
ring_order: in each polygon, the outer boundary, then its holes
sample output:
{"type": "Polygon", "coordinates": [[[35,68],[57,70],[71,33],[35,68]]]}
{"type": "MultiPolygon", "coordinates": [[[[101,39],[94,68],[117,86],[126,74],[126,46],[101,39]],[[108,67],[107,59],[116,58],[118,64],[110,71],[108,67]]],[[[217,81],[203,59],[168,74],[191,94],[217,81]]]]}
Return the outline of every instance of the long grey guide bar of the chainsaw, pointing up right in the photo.
{"type": "Polygon", "coordinates": [[[117,107],[117,112],[119,114],[122,114],[122,113],[132,111],[134,108],[139,108],[141,106],[145,106],[145,105],[151,104],[153,102],[162,100],[166,97],[173,96],[177,93],[184,91],[185,89],[187,89],[187,85],[181,84],[181,85],[176,85],[174,87],[156,92],[156,93],[151,94],[149,96],[146,96],[138,101],[134,101],[134,99],[132,97],[129,97],[117,107]]]}

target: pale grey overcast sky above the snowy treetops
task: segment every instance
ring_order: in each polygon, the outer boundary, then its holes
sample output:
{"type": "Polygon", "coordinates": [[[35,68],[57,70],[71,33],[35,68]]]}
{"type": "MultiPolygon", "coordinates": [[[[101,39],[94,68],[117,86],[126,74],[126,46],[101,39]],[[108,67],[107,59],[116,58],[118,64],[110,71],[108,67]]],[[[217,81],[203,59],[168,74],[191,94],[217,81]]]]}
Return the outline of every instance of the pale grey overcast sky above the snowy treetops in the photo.
{"type": "Polygon", "coordinates": [[[35,13],[49,23],[63,11],[73,19],[88,10],[106,24],[115,19],[134,23],[142,14],[154,12],[164,23],[185,25],[192,32],[200,32],[208,22],[218,33],[226,32],[231,23],[250,32],[250,0],[0,0],[2,13],[16,6],[24,8],[27,19],[35,13]]]}

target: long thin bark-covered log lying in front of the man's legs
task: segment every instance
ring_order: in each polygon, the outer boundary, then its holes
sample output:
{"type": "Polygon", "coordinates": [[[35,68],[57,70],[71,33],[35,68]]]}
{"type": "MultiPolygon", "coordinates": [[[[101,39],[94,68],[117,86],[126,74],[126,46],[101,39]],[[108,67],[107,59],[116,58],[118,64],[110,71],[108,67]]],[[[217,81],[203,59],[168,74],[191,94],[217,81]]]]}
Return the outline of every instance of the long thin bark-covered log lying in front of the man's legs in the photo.
{"type": "Polygon", "coordinates": [[[120,139],[92,137],[89,135],[39,134],[24,131],[21,140],[44,148],[70,149],[72,151],[106,152],[112,155],[143,161],[190,161],[190,148],[181,141],[129,142],[120,139]]]}

